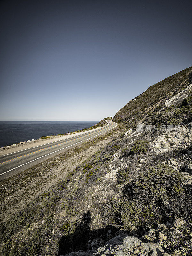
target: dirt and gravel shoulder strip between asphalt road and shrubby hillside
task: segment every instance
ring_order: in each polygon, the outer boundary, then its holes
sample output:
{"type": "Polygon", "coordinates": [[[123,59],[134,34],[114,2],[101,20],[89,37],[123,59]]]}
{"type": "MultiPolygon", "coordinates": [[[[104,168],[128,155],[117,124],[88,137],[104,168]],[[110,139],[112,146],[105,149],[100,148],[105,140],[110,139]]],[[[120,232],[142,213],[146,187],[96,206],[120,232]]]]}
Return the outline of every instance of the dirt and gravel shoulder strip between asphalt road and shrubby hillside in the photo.
{"type": "Polygon", "coordinates": [[[67,172],[74,170],[78,164],[116,138],[118,134],[115,130],[108,132],[1,181],[0,220],[9,219],[39,193],[63,179],[67,172]]]}

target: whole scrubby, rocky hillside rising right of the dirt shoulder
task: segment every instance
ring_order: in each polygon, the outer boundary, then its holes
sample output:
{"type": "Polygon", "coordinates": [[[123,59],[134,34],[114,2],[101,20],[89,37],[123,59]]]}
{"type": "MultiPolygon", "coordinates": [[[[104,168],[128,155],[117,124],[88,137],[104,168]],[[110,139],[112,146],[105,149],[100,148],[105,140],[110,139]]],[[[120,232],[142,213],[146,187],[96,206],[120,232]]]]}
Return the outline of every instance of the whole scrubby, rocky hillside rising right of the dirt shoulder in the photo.
{"type": "Polygon", "coordinates": [[[192,255],[191,69],[128,103],[111,142],[2,222],[0,254],[192,255]]]}

